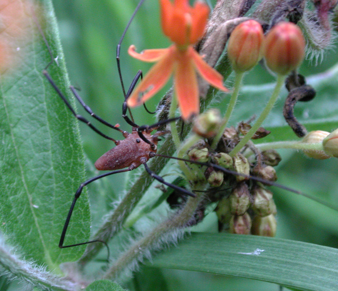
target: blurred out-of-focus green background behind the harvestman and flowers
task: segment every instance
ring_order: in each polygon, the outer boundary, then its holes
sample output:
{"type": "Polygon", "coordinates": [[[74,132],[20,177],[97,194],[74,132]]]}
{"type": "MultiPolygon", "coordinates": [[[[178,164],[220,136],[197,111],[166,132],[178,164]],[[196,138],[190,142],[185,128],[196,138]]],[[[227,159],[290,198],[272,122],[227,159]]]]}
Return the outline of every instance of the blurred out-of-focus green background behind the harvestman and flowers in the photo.
{"type": "MultiPolygon", "coordinates": [[[[211,2],[214,3],[215,0],[211,2]]],[[[137,3],[137,0],[54,1],[65,60],[72,84],[80,88],[81,97],[95,113],[108,122],[119,123],[122,129],[128,131],[130,131],[130,126],[124,122],[121,116],[123,94],[117,74],[115,50],[137,3]]],[[[158,12],[158,1],[146,0],[123,40],[120,58],[126,90],[137,70],[142,69],[146,72],[150,67],[149,64],[132,59],[127,54],[128,47],[134,44],[137,51],[141,51],[143,49],[165,48],[169,45],[169,41],[161,33],[158,12]]],[[[324,60],[319,66],[315,66],[314,62],[306,62],[302,65],[301,72],[306,76],[316,74],[329,68],[337,61],[337,53],[330,50],[325,52],[324,60]]],[[[273,80],[274,78],[262,67],[257,66],[254,71],[246,75],[244,84],[262,84],[273,80]]],[[[231,86],[231,81],[229,86],[231,86]]],[[[168,88],[169,85],[162,90],[162,93],[168,88]]],[[[338,90],[336,96],[337,92],[338,90]]],[[[160,93],[147,102],[149,110],[153,111],[156,108],[161,96],[160,93]]],[[[225,107],[225,105],[226,103],[218,107],[225,107]]],[[[298,109],[298,113],[303,113],[305,107],[298,109]]],[[[279,106],[279,110],[280,108],[279,106]]],[[[83,113],[80,106],[78,109],[83,113]]],[[[132,113],[135,122],[139,125],[155,122],[155,116],[146,113],[142,107],[133,109],[132,113]]],[[[241,120],[242,117],[236,119],[235,113],[232,124],[235,125],[241,120]]],[[[117,131],[107,130],[100,125],[98,127],[116,139],[122,138],[117,131]]],[[[113,143],[101,138],[85,126],[81,126],[81,133],[85,153],[91,162],[95,162],[99,156],[113,147],[113,143]]],[[[338,204],[337,160],[312,161],[301,153],[290,153],[290,151],[280,151],[280,153],[284,161],[277,172],[279,183],[312,195],[320,193],[323,199],[338,204]]],[[[118,177],[107,178],[103,181],[105,187],[108,188],[108,193],[104,192],[94,196],[89,189],[94,209],[102,207],[102,201],[113,201],[115,195],[121,193],[123,175],[116,176],[118,177]],[[119,182],[117,183],[117,181],[119,182]]],[[[277,237],[338,247],[338,213],[336,211],[328,210],[318,203],[295,194],[289,194],[286,191],[274,189],[274,193],[278,210],[277,237]]],[[[105,207],[109,208],[109,206],[105,207]]],[[[99,220],[102,214],[95,215],[95,212],[94,219],[99,220]]],[[[135,276],[129,288],[168,291],[279,290],[279,286],[274,284],[249,279],[148,267],[142,268],[142,272],[135,276]]]]}

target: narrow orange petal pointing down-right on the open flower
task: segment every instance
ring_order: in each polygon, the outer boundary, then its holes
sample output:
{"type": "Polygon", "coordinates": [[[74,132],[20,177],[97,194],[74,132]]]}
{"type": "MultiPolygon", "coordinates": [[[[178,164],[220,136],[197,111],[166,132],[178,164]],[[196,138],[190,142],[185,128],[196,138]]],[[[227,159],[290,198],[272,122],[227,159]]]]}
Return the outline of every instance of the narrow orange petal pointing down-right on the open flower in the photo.
{"type": "Polygon", "coordinates": [[[193,47],[189,47],[189,55],[193,59],[193,63],[197,69],[197,72],[201,75],[201,77],[208,81],[213,87],[216,87],[224,92],[229,91],[223,85],[223,76],[217,72],[214,68],[210,67],[202,57],[193,49],[193,47]]]}

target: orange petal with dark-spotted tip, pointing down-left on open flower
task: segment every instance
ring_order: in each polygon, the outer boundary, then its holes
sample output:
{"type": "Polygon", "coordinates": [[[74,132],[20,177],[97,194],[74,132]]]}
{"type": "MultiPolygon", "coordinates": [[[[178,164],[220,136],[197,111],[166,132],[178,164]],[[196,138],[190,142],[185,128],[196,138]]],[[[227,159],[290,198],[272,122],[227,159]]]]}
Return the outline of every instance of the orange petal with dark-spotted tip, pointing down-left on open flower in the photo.
{"type": "Polygon", "coordinates": [[[162,56],[158,63],[151,67],[141,83],[139,83],[128,98],[128,106],[135,107],[141,105],[156,94],[169,80],[175,64],[174,49],[175,47],[173,46],[166,49],[166,54],[162,56]]]}

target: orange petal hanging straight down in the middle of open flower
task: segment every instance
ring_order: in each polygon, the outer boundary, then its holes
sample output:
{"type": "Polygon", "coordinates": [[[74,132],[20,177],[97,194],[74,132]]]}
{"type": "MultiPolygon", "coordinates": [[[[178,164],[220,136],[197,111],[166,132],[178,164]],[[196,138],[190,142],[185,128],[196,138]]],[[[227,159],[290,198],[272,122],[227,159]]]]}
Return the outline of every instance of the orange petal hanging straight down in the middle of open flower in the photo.
{"type": "Polygon", "coordinates": [[[174,85],[182,118],[189,119],[199,113],[199,93],[195,67],[186,53],[178,56],[174,72],[174,85]]]}

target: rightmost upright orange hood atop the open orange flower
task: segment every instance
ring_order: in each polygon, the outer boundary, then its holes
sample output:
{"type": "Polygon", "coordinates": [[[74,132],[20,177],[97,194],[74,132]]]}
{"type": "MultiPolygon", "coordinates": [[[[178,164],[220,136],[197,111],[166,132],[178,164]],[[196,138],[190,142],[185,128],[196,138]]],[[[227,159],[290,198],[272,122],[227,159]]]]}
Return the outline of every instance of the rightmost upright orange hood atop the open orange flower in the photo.
{"type": "Polygon", "coordinates": [[[190,34],[190,43],[195,44],[202,38],[208,22],[209,6],[202,2],[196,1],[192,9],[192,29],[190,34]]]}

